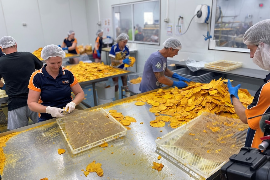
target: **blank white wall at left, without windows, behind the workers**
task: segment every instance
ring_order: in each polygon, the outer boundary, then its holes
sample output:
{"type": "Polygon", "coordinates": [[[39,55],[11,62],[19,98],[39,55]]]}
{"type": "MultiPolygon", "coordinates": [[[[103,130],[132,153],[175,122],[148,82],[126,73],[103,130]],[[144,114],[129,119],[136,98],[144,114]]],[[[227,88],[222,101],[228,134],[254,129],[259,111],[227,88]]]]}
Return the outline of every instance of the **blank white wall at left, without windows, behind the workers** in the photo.
{"type": "Polygon", "coordinates": [[[18,51],[62,44],[69,30],[75,31],[79,45],[88,44],[85,4],[85,0],[1,0],[0,36],[12,36],[18,51]]]}

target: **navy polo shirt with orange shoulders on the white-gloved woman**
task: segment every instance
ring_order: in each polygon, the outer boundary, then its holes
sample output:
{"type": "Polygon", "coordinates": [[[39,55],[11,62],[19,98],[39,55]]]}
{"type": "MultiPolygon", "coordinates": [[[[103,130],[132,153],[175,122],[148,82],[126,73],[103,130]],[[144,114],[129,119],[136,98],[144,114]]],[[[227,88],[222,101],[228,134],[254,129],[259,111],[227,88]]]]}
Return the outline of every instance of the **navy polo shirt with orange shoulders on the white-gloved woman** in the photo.
{"type": "MultiPolygon", "coordinates": [[[[54,79],[46,71],[46,66],[47,64],[31,75],[28,88],[40,92],[39,104],[63,108],[72,101],[71,87],[77,84],[78,80],[70,70],[62,66],[59,75],[54,79]]],[[[39,118],[48,120],[53,117],[47,113],[39,113],[39,118]]]]}

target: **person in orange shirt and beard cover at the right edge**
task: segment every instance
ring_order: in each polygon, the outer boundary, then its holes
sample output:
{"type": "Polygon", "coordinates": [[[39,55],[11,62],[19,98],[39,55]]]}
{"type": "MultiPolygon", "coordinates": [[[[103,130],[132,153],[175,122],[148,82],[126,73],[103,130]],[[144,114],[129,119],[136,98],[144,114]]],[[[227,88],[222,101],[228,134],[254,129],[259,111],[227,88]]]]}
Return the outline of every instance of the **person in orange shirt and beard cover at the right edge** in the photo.
{"type": "MultiPolygon", "coordinates": [[[[243,37],[244,44],[250,49],[250,58],[260,68],[270,71],[270,19],[260,21],[247,29],[243,37]]],[[[240,120],[250,127],[245,142],[246,147],[258,148],[262,142],[260,139],[264,133],[260,128],[261,116],[248,119],[249,117],[270,112],[270,73],[264,79],[262,85],[254,95],[253,102],[245,108],[239,100],[238,89],[240,84],[232,86],[228,80],[228,91],[231,103],[240,120]]]]}

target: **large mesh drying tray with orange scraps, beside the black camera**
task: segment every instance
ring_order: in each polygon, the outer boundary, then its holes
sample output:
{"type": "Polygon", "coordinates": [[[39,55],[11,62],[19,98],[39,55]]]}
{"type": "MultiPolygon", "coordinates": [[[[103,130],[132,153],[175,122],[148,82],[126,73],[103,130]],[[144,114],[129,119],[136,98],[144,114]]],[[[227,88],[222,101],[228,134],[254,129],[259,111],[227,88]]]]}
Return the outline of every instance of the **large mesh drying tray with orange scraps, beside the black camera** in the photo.
{"type": "Polygon", "coordinates": [[[204,112],[192,121],[158,138],[165,158],[195,179],[207,179],[244,146],[248,126],[240,119],[204,112]],[[219,129],[214,132],[210,128],[219,129]],[[205,131],[204,131],[205,130],[205,131]]]}

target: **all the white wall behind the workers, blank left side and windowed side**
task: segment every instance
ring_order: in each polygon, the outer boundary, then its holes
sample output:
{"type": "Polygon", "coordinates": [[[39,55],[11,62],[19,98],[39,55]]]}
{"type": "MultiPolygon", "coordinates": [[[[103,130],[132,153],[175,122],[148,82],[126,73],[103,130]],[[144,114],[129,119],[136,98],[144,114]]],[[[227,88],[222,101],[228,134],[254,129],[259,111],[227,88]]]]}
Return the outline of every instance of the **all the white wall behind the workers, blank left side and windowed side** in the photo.
{"type": "MultiPolygon", "coordinates": [[[[112,5],[134,2],[135,0],[100,0],[100,17],[112,19],[112,5]]],[[[162,43],[172,36],[166,35],[166,0],[161,0],[160,14],[160,44],[137,44],[138,72],[143,71],[144,62],[151,53],[162,49],[162,43]]],[[[258,2],[259,3],[259,2],[258,2]]],[[[169,23],[174,26],[179,15],[184,17],[185,30],[194,16],[195,8],[199,4],[212,5],[212,0],[169,0],[169,23]]],[[[94,44],[96,31],[101,28],[97,25],[97,0],[0,0],[0,36],[13,36],[18,43],[19,51],[33,52],[39,47],[48,44],[61,44],[69,30],[75,31],[78,44],[94,44]],[[23,26],[25,22],[27,25],[23,26]]],[[[111,28],[111,30],[113,30],[111,28]]],[[[174,31],[174,30],[173,30],[174,31]]],[[[173,36],[179,39],[183,48],[174,60],[231,60],[243,62],[243,67],[260,69],[254,66],[249,53],[238,53],[218,50],[208,50],[208,41],[202,34],[206,34],[206,24],[195,23],[193,20],[187,33],[182,36],[173,36]]],[[[174,32],[175,33],[175,32],[174,32]]],[[[113,32],[111,32],[111,36],[113,32]]],[[[106,61],[102,53],[102,61],[106,61]]]]}

